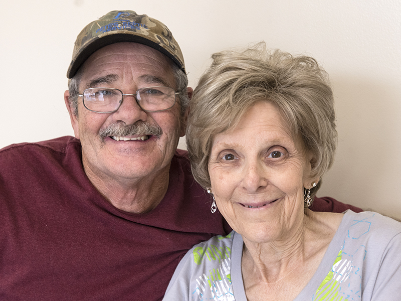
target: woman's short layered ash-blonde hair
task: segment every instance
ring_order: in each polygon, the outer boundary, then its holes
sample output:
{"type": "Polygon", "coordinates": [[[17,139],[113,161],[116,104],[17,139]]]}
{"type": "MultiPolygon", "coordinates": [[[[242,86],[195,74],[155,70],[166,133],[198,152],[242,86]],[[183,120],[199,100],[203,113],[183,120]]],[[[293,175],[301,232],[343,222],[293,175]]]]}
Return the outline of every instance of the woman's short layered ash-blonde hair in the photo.
{"type": "MultiPolygon", "coordinates": [[[[212,55],[190,100],[186,145],[192,174],[211,187],[209,157],[215,135],[233,128],[256,102],[277,106],[290,133],[312,155],[312,178],[332,166],[337,145],[334,99],[327,73],[309,56],[267,50],[259,43],[246,50],[212,55]]],[[[311,189],[316,194],[319,184],[311,189]]]]}

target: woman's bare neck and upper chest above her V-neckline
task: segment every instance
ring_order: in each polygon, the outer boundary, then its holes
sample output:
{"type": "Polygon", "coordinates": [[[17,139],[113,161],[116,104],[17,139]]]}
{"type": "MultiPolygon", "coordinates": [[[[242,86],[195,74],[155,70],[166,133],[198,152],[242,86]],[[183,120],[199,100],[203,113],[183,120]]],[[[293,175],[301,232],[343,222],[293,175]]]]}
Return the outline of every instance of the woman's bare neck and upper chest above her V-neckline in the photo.
{"type": "Polygon", "coordinates": [[[341,219],[341,214],[306,210],[286,237],[265,243],[243,237],[241,267],[248,300],[293,300],[317,270],[341,219]]]}

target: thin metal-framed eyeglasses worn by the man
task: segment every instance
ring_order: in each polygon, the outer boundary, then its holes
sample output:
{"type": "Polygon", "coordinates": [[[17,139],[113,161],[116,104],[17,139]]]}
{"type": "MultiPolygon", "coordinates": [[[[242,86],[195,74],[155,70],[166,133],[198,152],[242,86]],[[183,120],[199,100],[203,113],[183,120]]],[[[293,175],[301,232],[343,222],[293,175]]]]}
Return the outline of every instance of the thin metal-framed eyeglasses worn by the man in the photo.
{"type": "Polygon", "coordinates": [[[147,87],[135,94],[123,94],[115,88],[89,88],[78,96],[82,97],[85,108],[92,112],[113,113],[122,104],[124,96],[135,97],[139,107],[146,112],[161,112],[174,106],[178,94],[170,87],[147,87]]]}

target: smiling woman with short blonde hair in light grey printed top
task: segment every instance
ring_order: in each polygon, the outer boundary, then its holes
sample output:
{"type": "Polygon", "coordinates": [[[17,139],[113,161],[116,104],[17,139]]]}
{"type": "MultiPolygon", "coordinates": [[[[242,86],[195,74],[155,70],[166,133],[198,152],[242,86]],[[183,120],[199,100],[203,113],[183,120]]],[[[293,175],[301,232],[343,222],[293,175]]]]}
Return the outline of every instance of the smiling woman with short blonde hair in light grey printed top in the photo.
{"type": "Polygon", "coordinates": [[[164,300],[399,300],[401,223],[308,209],[336,147],[326,73],[264,44],[213,60],[187,147],[234,231],[194,246],[164,300]]]}

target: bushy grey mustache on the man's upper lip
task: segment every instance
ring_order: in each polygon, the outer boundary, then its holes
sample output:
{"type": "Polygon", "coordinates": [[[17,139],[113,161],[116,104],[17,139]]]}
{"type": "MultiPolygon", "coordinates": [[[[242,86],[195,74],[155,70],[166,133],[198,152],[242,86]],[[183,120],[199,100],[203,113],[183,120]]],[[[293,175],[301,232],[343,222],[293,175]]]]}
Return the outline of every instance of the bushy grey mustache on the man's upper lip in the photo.
{"type": "Polygon", "coordinates": [[[99,130],[100,138],[103,140],[109,136],[128,136],[128,135],[152,135],[160,138],[163,133],[162,129],[158,125],[154,125],[147,122],[138,121],[134,124],[122,125],[119,123],[113,123],[109,126],[99,130]]]}

